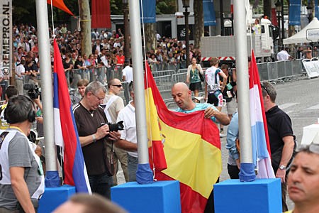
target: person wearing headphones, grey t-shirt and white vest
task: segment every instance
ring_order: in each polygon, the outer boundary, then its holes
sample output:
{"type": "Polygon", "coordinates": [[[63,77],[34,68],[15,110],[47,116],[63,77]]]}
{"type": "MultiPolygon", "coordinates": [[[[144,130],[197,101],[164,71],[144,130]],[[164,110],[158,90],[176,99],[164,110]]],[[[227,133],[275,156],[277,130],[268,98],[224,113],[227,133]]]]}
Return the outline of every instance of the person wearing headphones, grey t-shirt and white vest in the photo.
{"type": "Polygon", "coordinates": [[[36,212],[44,192],[40,158],[27,138],[35,121],[33,101],[23,95],[9,99],[0,131],[0,212],[36,212]]]}

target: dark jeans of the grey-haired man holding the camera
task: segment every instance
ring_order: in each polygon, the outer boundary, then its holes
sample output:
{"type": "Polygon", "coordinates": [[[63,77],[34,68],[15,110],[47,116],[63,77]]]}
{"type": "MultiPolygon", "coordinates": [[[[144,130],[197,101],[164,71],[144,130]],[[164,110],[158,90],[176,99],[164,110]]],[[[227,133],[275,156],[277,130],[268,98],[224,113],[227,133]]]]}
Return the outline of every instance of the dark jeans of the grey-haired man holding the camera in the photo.
{"type": "Polygon", "coordinates": [[[113,186],[112,176],[109,176],[108,173],[89,175],[89,182],[92,192],[111,199],[111,187],[113,186]]]}

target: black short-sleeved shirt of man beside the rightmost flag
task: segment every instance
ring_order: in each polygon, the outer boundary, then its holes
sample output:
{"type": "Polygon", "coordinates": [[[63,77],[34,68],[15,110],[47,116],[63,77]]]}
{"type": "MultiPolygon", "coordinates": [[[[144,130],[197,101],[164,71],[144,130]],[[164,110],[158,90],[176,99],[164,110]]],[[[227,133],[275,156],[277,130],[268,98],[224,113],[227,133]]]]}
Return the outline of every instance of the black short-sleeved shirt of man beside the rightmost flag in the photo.
{"type": "Polygon", "coordinates": [[[278,106],[269,109],[266,112],[269,143],[272,154],[284,146],[282,138],[293,136],[291,119],[278,106]]]}

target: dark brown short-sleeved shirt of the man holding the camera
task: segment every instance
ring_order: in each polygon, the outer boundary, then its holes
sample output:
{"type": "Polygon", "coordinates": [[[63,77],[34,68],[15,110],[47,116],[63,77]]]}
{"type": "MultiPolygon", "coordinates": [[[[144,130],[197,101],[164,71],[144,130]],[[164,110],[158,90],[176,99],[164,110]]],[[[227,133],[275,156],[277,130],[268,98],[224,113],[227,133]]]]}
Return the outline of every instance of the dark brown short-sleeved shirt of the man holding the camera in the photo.
{"type": "MultiPolygon", "coordinates": [[[[101,123],[107,123],[106,115],[102,107],[99,107],[91,113],[79,103],[75,104],[72,109],[79,137],[92,135],[96,133],[101,123]]],[[[82,146],[82,152],[88,175],[101,175],[106,172],[104,160],[106,158],[106,138],[82,146]]]]}

